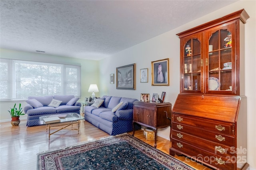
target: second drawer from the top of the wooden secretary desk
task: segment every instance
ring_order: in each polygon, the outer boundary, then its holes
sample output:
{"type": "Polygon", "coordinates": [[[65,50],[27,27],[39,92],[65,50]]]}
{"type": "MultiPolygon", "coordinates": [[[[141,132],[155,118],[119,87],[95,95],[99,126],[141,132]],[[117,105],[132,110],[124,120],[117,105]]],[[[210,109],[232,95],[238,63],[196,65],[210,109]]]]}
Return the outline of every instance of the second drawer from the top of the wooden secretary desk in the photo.
{"type": "Polygon", "coordinates": [[[208,139],[222,145],[235,146],[235,137],[232,135],[225,135],[213,131],[207,131],[197,127],[184,125],[182,123],[172,123],[172,129],[180,131],[182,133],[188,133],[190,135],[208,139]]]}

